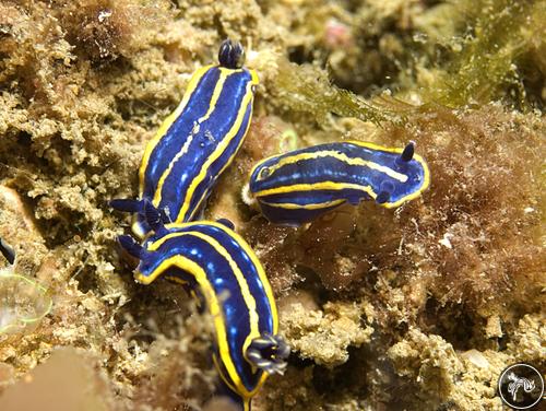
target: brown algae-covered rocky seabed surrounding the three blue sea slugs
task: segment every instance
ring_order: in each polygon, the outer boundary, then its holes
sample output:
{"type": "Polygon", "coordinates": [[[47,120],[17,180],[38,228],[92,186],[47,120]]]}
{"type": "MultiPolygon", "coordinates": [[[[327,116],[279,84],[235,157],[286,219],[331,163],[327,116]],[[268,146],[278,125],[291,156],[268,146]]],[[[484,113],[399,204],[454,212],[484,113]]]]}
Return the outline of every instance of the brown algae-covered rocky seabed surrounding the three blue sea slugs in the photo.
{"type": "Polygon", "coordinates": [[[175,284],[134,284],[115,240],[130,219],[107,206],[136,197],[145,143],[226,37],[260,85],[205,216],[254,249],[293,348],[252,409],[492,410],[506,366],[544,371],[546,2],[471,3],[0,2],[0,237],[17,256],[0,267],[52,302],[0,329],[0,409],[67,375],[97,410],[227,409],[205,404],[210,320],[175,284]],[[344,140],[415,141],[430,188],[298,228],[242,201],[259,160],[344,140]]]}

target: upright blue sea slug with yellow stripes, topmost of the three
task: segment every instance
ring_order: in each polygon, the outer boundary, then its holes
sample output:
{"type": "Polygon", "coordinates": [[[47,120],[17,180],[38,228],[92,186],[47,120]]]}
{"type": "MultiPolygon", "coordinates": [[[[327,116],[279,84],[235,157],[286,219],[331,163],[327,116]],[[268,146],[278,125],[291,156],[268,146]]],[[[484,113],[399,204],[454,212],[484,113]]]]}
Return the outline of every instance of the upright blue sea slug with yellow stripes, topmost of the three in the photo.
{"type": "Polygon", "coordinates": [[[164,223],[192,221],[202,211],[218,176],[240,149],[252,117],[258,74],[242,67],[239,43],[225,40],[219,64],[191,78],[178,108],[147,143],[139,171],[139,200],[112,200],[111,207],[135,212],[133,233],[150,231],[144,200],[159,210],[164,223]]]}

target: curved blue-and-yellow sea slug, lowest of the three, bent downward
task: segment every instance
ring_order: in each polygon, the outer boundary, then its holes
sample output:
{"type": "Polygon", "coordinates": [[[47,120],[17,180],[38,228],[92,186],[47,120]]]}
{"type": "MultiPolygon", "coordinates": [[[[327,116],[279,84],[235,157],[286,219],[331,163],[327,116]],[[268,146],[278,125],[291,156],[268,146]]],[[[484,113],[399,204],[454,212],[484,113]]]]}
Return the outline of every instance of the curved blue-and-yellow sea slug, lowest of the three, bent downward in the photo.
{"type": "Polygon", "coordinates": [[[223,392],[250,410],[266,376],[282,374],[289,354],[277,334],[276,305],[260,261],[227,220],[164,224],[147,201],[143,215],[153,234],[142,246],[119,237],[140,259],[134,279],[150,284],[164,277],[198,298],[214,321],[213,361],[223,392]]]}

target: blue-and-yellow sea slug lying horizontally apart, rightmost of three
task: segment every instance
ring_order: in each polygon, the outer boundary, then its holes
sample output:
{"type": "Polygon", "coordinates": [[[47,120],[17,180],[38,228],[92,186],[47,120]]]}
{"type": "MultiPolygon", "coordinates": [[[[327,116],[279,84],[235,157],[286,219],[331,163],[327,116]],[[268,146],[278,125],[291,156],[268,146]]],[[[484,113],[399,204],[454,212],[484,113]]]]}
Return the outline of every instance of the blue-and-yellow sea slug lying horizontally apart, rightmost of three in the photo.
{"type": "Polygon", "coordinates": [[[244,197],[270,222],[297,226],[345,202],[375,200],[396,208],[429,184],[427,163],[415,154],[414,142],[391,149],[346,141],[262,160],[252,168],[244,197]]]}

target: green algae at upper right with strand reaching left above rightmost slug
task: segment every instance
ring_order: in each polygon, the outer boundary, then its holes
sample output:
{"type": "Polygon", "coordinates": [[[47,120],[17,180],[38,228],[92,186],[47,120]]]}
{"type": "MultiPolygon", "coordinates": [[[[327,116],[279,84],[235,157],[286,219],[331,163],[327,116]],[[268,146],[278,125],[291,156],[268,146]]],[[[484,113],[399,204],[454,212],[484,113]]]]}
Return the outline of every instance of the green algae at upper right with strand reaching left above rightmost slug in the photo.
{"type": "MultiPolygon", "coordinates": [[[[506,98],[521,108],[530,103],[542,106],[541,83],[546,75],[539,57],[546,50],[544,15],[544,0],[465,0],[441,3],[425,12],[416,19],[413,48],[406,50],[407,60],[414,61],[408,67],[413,71],[410,77],[417,81],[422,102],[455,108],[506,98]],[[426,46],[419,47],[419,43],[426,46]],[[529,60],[537,61],[531,72],[522,69],[533,66],[525,64],[529,60]],[[426,80],[417,75],[423,71],[428,72],[426,80]]],[[[280,61],[278,66],[275,85],[283,104],[311,114],[321,126],[331,114],[376,125],[403,124],[416,110],[390,93],[364,99],[332,84],[328,72],[313,64],[280,61]]],[[[400,95],[415,91],[407,75],[399,75],[399,85],[403,86],[400,95]]]]}

